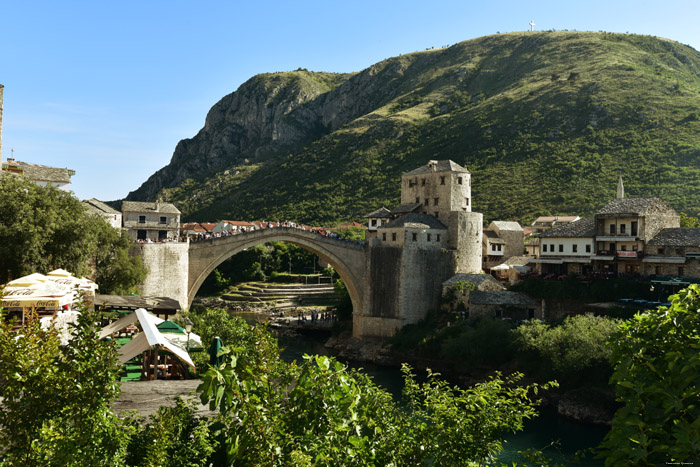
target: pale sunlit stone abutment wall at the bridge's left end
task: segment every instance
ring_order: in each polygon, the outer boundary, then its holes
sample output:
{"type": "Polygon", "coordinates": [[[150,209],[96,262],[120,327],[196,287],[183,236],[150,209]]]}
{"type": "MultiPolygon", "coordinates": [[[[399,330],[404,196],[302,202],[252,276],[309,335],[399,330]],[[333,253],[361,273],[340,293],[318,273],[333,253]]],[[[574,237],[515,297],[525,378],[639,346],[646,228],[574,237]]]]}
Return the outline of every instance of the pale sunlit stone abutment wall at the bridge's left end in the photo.
{"type": "Polygon", "coordinates": [[[129,250],[131,256],[140,256],[148,269],[141,294],[170,297],[188,306],[187,275],[189,270],[188,243],[136,243],[129,250]]]}

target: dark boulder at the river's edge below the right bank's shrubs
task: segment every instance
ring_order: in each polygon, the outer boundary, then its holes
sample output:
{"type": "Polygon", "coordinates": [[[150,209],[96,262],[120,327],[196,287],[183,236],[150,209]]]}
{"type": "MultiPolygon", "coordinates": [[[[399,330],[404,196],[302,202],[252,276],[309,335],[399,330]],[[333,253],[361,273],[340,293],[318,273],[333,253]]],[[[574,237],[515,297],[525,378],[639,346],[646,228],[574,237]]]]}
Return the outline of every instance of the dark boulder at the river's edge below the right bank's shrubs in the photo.
{"type": "Polygon", "coordinates": [[[559,415],[580,422],[610,426],[617,408],[614,392],[581,388],[564,393],[559,399],[557,411],[559,415]]]}

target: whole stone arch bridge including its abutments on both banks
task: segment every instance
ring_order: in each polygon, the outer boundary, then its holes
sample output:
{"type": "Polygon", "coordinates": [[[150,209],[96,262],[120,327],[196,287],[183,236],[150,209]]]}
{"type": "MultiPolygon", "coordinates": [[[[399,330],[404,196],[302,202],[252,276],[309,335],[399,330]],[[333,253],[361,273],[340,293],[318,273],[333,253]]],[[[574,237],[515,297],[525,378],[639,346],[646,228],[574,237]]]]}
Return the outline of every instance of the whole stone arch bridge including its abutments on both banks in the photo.
{"type": "MultiPolygon", "coordinates": [[[[452,250],[361,245],[291,227],[275,227],[187,243],[138,243],[131,250],[149,270],[144,295],[191,305],[204,280],[235,254],[282,241],[318,255],[345,283],[353,305],[353,335],[393,335],[439,307],[442,282],[455,273],[452,250]]],[[[479,258],[480,259],[480,258],[479,258]]]]}

